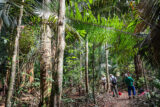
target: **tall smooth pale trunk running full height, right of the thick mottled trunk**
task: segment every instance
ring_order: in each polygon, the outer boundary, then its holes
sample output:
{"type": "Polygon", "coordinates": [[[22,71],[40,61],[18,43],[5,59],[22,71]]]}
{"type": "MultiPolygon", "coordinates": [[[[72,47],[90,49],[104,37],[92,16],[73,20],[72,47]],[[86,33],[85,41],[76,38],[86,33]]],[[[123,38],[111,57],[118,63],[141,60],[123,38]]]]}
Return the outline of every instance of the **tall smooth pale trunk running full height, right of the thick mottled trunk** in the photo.
{"type": "Polygon", "coordinates": [[[65,0],[59,0],[59,16],[58,16],[58,54],[57,54],[57,107],[61,105],[62,82],[63,82],[63,58],[65,49],[65,0]]]}

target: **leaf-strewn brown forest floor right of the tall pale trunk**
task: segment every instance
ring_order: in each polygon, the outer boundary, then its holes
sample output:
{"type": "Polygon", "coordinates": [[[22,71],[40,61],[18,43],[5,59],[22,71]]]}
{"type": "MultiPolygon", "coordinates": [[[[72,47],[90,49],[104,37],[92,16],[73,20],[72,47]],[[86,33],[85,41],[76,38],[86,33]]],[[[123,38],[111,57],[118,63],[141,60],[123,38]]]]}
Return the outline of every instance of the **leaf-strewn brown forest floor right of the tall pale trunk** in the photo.
{"type": "Polygon", "coordinates": [[[85,96],[79,96],[73,94],[67,98],[71,98],[73,102],[63,102],[63,107],[149,107],[148,103],[145,103],[145,95],[136,98],[129,99],[127,91],[121,91],[121,95],[117,97],[112,96],[112,92],[99,94],[96,93],[96,104],[93,103],[93,99],[86,103],[85,96]]]}

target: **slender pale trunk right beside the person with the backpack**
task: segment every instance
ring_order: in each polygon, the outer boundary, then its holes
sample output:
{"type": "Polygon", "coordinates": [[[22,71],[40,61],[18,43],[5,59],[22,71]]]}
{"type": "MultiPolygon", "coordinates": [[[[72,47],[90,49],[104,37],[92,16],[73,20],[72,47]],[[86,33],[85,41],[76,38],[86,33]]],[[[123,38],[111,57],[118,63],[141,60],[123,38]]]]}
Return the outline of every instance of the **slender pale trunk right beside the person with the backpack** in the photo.
{"type": "Polygon", "coordinates": [[[107,49],[107,43],[105,45],[105,50],[106,50],[106,74],[107,74],[107,92],[111,89],[110,87],[110,78],[109,78],[109,69],[108,69],[108,49],[107,49]]]}

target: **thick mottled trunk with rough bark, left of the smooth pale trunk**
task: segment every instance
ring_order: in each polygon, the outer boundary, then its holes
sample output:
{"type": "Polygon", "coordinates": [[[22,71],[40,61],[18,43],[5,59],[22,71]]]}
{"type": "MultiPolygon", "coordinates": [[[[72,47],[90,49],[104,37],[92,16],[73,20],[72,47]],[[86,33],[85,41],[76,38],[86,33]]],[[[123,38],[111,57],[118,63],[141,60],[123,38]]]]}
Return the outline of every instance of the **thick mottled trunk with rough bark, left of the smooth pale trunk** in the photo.
{"type": "MultiPolygon", "coordinates": [[[[43,5],[48,5],[50,0],[43,0],[43,5]]],[[[43,6],[44,8],[45,6],[43,6]]],[[[45,15],[45,14],[44,14],[45,15]]],[[[42,27],[41,27],[41,58],[40,58],[40,70],[41,70],[41,82],[40,82],[40,92],[41,92],[41,99],[40,105],[47,106],[49,101],[49,79],[51,75],[51,28],[47,25],[47,19],[45,16],[42,16],[42,27]],[[48,80],[47,80],[48,79],[48,80]]]]}

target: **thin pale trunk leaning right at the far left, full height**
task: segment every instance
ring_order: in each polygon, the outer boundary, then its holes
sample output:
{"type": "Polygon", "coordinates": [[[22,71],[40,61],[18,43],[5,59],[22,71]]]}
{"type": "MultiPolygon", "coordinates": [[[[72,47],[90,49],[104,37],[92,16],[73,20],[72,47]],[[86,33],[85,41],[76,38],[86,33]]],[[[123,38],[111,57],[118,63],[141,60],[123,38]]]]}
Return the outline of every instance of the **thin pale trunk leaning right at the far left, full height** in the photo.
{"type": "MultiPolygon", "coordinates": [[[[22,0],[24,2],[24,0],[22,0]]],[[[23,16],[23,5],[20,7],[20,15],[17,25],[17,35],[15,38],[15,45],[14,45],[14,53],[12,58],[12,72],[10,76],[10,83],[9,83],[9,90],[6,100],[6,107],[11,107],[11,99],[14,91],[14,84],[15,84],[15,77],[16,77],[16,58],[17,58],[17,50],[18,50],[18,44],[19,44],[19,37],[20,37],[20,31],[21,31],[21,21],[23,16]]]]}

